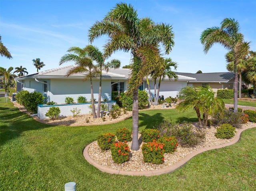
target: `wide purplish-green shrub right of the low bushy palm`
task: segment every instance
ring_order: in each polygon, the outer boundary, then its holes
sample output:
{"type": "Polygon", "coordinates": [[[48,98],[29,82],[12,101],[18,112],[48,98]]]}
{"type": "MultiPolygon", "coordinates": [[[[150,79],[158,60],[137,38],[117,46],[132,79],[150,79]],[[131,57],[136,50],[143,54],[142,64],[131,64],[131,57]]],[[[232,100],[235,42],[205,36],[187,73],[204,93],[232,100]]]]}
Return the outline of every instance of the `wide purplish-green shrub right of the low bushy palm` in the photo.
{"type": "Polygon", "coordinates": [[[242,112],[234,112],[232,108],[224,109],[223,112],[214,112],[211,114],[212,123],[216,126],[221,124],[230,124],[234,127],[240,128],[244,121],[242,120],[242,112]]]}

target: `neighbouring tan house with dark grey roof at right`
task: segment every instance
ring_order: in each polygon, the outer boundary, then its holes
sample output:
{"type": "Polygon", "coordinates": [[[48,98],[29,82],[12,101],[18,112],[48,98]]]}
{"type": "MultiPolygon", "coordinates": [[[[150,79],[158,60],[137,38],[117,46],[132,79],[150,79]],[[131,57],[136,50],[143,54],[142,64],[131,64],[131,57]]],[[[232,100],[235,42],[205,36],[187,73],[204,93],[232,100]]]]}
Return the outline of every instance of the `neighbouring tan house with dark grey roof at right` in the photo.
{"type": "Polygon", "coordinates": [[[233,89],[233,76],[232,72],[220,72],[220,73],[178,73],[192,78],[196,78],[195,81],[188,81],[188,86],[202,86],[209,85],[214,92],[218,89],[233,89]]]}

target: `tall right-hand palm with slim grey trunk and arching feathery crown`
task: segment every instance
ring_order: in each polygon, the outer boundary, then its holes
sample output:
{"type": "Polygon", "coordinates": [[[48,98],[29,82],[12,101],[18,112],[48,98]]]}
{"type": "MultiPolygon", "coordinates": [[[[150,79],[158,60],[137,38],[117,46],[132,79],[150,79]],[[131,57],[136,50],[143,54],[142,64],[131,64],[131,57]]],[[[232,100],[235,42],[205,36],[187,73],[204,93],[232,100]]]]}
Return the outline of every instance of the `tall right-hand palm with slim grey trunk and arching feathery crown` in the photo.
{"type": "Polygon", "coordinates": [[[247,55],[248,50],[244,49],[244,35],[239,32],[238,21],[225,18],[220,27],[207,28],[201,33],[200,41],[204,45],[204,52],[207,53],[214,43],[220,43],[229,51],[234,52],[234,111],[237,112],[237,91],[238,74],[237,64],[247,55]]]}

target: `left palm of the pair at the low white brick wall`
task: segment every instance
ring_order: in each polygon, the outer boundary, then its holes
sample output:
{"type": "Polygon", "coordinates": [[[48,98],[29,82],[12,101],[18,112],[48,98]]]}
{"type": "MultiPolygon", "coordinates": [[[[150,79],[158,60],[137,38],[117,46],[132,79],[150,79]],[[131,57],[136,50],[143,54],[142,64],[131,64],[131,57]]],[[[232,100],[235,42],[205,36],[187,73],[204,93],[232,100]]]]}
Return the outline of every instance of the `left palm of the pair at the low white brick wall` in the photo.
{"type": "Polygon", "coordinates": [[[75,66],[68,71],[67,76],[77,73],[87,73],[84,77],[84,81],[90,79],[90,88],[91,88],[91,97],[92,97],[92,116],[96,118],[95,112],[95,104],[94,104],[94,95],[93,95],[93,87],[92,87],[92,78],[98,74],[98,71],[93,64],[92,56],[88,54],[86,47],[70,47],[68,50],[68,54],[65,54],[61,57],[59,65],[62,65],[65,62],[74,61],[75,66]],[[73,53],[73,54],[72,54],[73,53]]]}

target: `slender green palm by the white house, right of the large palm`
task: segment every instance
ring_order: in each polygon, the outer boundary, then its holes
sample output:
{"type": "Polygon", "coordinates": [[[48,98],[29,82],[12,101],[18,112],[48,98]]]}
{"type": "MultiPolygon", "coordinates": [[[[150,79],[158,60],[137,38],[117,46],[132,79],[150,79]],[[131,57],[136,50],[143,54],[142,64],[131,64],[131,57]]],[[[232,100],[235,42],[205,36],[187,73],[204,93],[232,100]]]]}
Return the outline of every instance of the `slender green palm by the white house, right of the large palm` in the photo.
{"type": "Polygon", "coordinates": [[[178,64],[176,62],[172,61],[171,58],[162,59],[162,62],[163,62],[164,68],[163,69],[159,68],[159,70],[153,74],[153,78],[155,79],[155,84],[156,84],[156,79],[157,78],[159,79],[157,95],[155,97],[155,105],[157,105],[157,103],[158,103],[161,81],[163,81],[165,77],[168,77],[169,80],[174,79],[174,81],[176,81],[178,79],[177,74],[174,71],[172,71],[172,69],[171,69],[171,67],[174,67],[174,70],[176,70],[178,64]]]}

